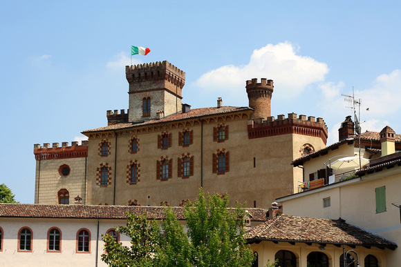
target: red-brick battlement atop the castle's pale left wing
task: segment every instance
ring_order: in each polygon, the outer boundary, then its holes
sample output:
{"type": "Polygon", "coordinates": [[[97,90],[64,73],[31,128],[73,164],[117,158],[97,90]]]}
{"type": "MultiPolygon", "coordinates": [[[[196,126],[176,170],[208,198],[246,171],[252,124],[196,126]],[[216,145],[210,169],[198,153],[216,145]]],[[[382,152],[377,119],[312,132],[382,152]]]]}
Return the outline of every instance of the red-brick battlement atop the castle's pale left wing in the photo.
{"type": "Polygon", "coordinates": [[[34,144],[33,154],[37,161],[88,157],[88,140],[83,140],[81,146],[78,145],[78,141],[72,141],[71,146],[68,146],[68,142],[62,142],[62,146],[59,146],[59,143],[53,143],[51,148],[50,143],[44,143],[43,146],[34,144]]]}

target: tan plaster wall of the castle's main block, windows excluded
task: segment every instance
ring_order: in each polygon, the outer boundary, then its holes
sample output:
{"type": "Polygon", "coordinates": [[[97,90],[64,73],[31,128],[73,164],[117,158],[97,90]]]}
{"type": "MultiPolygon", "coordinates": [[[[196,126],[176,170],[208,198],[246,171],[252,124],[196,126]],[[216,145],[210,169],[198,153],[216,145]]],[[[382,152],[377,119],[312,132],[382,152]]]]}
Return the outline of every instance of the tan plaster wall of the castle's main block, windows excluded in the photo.
{"type": "MultiPolygon", "coordinates": [[[[115,204],[127,205],[129,201],[138,201],[141,206],[159,206],[167,201],[171,206],[180,205],[181,201],[194,200],[201,188],[201,136],[202,126],[183,122],[177,128],[162,126],[153,131],[136,134],[140,139],[140,150],[136,154],[129,152],[129,139],[132,134],[119,136],[117,143],[117,166],[115,166],[115,137],[113,132],[104,136],[90,138],[88,143],[88,204],[113,204],[114,172],[115,204]],[[178,146],[178,132],[189,128],[194,131],[194,144],[189,147],[178,146]],[[157,148],[158,135],[168,131],[172,136],[171,148],[157,148]],[[109,137],[107,137],[109,135],[109,137]],[[108,157],[98,155],[99,143],[109,139],[111,152],[108,157]],[[189,179],[177,177],[178,157],[189,153],[194,156],[194,176],[189,179]],[[173,159],[172,178],[168,181],[156,179],[156,161],[160,157],[173,159]],[[140,164],[140,181],[136,185],[127,183],[127,165],[130,160],[140,164]],[[96,168],[101,163],[108,163],[112,168],[111,185],[106,188],[95,185],[96,168]],[[149,197],[149,198],[148,198],[149,197]]],[[[294,170],[291,161],[299,157],[299,149],[305,143],[315,149],[324,147],[323,141],[316,137],[303,135],[280,135],[259,139],[248,139],[247,119],[221,120],[203,124],[203,188],[206,192],[220,192],[231,196],[235,201],[246,202],[246,206],[268,208],[276,197],[293,192],[297,181],[301,180],[301,171],[294,170]],[[213,141],[213,128],[218,123],[229,126],[229,138],[224,142],[213,141]],[[230,152],[230,171],[224,175],[212,173],[212,154],[225,149],[230,152]],[[296,177],[294,177],[296,176],[296,177]]]]}

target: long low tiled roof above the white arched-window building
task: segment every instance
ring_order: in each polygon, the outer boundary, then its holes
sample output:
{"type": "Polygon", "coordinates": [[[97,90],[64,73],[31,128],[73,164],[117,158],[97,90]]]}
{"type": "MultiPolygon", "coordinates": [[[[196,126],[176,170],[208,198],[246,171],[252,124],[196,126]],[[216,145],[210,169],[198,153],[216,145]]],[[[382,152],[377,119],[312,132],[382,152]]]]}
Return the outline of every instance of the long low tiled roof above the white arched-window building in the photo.
{"type": "MultiPolygon", "coordinates": [[[[185,220],[183,207],[171,207],[180,220],[185,220]]],[[[252,221],[265,221],[267,210],[246,208],[252,221]]],[[[149,206],[89,206],[0,204],[0,218],[55,218],[55,219],[127,219],[126,213],[147,215],[147,219],[165,219],[165,207],[149,206]]]]}

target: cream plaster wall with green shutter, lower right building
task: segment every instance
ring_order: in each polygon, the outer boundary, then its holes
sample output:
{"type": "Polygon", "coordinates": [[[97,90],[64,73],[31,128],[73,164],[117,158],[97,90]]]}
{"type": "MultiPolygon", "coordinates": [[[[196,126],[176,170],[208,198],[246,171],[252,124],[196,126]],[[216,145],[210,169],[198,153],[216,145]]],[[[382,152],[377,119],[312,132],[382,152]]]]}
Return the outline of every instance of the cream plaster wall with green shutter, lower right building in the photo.
{"type": "MultiPolygon", "coordinates": [[[[304,217],[345,219],[395,244],[401,244],[400,210],[391,203],[400,202],[401,167],[351,179],[333,186],[304,192],[282,199],[283,213],[304,217]],[[376,213],[375,188],[386,186],[386,211],[376,213]],[[330,197],[330,207],[323,199],[330,197]]],[[[401,262],[401,253],[386,250],[389,266],[401,262]]]]}

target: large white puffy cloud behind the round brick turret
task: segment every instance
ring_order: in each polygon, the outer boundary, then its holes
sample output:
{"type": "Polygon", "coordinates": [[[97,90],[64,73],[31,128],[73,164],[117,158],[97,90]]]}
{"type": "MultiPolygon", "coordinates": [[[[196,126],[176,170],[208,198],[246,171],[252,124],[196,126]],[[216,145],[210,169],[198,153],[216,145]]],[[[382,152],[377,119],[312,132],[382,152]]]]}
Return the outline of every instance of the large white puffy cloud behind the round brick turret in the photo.
{"type": "Polygon", "coordinates": [[[195,85],[204,90],[219,88],[219,91],[236,95],[243,92],[247,80],[274,77],[274,84],[285,88],[274,92],[274,97],[295,98],[308,84],[324,81],[327,73],[326,63],[296,55],[295,47],[286,42],[254,50],[249,63],[244,66],[227,65],[211,70],[199,77],[195,85]]]}

